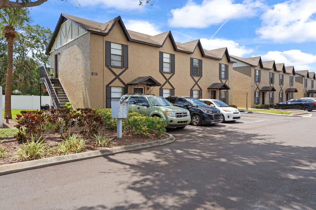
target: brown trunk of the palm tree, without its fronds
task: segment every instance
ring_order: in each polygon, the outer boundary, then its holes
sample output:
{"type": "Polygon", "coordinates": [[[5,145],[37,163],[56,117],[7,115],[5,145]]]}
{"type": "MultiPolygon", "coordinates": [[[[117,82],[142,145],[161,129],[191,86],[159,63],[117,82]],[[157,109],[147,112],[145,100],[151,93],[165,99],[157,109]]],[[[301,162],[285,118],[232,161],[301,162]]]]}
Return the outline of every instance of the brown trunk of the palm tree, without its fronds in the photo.
{"type": "Polygon", "coordinates": [[[12,92],[12,71],[13,71],[13,39],[7,38],[8,41],[8,69],[7,78],[5,82],[5,100],[4,100],[4,116],[9,116],[12,119],[11,114],[11,92],[12,92]]]}

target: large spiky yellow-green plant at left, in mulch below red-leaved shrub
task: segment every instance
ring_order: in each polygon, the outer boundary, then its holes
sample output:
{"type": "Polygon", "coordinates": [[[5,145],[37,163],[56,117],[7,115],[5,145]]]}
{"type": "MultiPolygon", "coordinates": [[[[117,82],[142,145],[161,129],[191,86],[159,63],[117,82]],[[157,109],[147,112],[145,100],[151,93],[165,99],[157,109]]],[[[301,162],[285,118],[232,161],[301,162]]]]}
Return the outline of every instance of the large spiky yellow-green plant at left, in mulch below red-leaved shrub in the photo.
{"type": "Polygon", "coordinates": [[[50,147],[47,143],[44,143],[45,139],[40,137],[36,139],[31,137],[31,141],[27,140],[27,145],[21,146],[21,148],[15,153],[15,157],[19,157],[20,160],[23,159],[40,159],[44,158],[45,155],[50,154],[50,147]]]}

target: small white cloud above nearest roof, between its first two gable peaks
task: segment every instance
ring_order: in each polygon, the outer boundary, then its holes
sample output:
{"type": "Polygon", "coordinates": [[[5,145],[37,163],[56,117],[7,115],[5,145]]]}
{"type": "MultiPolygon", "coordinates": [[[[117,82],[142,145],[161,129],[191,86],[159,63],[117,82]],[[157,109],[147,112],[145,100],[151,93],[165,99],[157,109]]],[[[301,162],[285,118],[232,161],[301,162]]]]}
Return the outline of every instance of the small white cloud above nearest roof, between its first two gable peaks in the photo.
{"type": "Polygon", "coordinates": [[[151,36],[162,33],[155,24],[151,24],[148,21],[143,20],[127,20],[124,21],[126,29],[136,31],[151,36]]]}

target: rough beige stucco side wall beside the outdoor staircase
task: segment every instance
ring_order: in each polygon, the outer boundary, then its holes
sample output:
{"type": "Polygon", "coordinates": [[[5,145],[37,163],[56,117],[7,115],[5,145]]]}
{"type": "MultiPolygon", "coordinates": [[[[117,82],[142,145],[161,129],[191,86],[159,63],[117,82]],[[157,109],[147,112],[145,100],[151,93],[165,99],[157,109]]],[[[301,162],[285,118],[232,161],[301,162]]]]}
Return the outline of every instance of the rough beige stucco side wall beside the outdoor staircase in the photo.
{"type": "Polygon", "coordinates": [[[90,34],[86,33],[51,52],[55,70],[55,55],[59,55],[59,80],[74,108],[90,107],[90,34]]]}

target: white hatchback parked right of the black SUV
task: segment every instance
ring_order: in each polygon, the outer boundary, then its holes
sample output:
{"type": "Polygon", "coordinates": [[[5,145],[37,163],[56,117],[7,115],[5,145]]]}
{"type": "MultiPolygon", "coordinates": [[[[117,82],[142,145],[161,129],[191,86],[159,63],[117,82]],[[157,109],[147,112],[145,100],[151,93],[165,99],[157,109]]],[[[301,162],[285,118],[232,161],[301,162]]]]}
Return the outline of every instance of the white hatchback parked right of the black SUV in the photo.
{"type": "Polygon", "coordinates": [[[225,104],[224,102],[220,101],[220,100],[216,100],[216,99],[200,99],[201,101],[203,101],[205,104],[215,107],[219,110],[221,110],[221,114],[223,116],[222,118],[222,122],[224,121],[236,121],[236,120],[240,120],[240,112],[238,111],[238,109],[234,108],[234,107],[230,107],[227,104],[225,104]]]}

